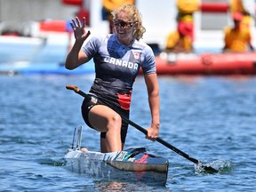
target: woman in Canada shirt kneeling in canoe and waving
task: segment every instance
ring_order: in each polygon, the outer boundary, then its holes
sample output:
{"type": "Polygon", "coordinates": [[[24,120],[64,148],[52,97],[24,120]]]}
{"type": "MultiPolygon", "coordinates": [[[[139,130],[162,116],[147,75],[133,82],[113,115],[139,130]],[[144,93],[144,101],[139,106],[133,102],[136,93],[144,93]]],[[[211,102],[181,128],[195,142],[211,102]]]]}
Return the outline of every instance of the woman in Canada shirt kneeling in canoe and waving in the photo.
{"type": "Polygon", "coordinates": [[[160,126],[155,57],[152,49],[140,40],[145,32],[140,12],[134,5],[126,4],[112,14],[115,33],[103,38],[92,36],[86,44],[84,41],[90,31],[85,30],[85,18],[83,23],[78,18],[73,20],[71,26],[76,41],[66,60],[68,69],[77,68],[92,58],[95,63],[96,76],[89,94],[93,100],[97,100],[97,105],[84,100],[82,114],[88,126],[101,132],[102,153],[124,148],[128,124],[122,122],[116,109],[129,118],[132,84],[140,67],[148,88],[148,103],[152,116],[146,138],[156,140],[160,126]]]}

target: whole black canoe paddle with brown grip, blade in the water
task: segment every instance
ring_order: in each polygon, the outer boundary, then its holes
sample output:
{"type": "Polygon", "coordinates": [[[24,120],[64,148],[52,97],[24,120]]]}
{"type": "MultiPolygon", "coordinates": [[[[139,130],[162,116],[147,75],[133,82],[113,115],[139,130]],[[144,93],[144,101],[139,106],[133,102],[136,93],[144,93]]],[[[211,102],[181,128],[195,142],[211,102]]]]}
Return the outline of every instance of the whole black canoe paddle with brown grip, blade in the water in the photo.
{"type": "MultiPolygon", "coordinates": [[[[82,92],[76,85],[67,85],[66,88],[68,90],[73,90],[74,92],[80,94],[86,100],[91,100],[92,99],[91,96],[89,96],[85,92],[82,92]]],[[[92,100],[92,102],[95,102],[95,101],[92,100]]],[[[116,111],[116,113],[118,113],[118,111],[116,111]]],[[[128,119],[127,117],[123,116],[121,113],[118,113],[118,114],[122,117],[124,122],[126,122],[127,124],[132,125],[134,128],[136,128],[140,132],[143,132],[145,135],[148,134],[148,131],[146,129],[142,128],[139,124],[135,124],[130,119],[128,119]]],[[[172,149],[172,151],[176,152],[180,156],[183,156],[183,157],[187,158],[189,161],[191,161],[194,164],[196,164],[200,168],[200,170],[204,170],[205,172],[211,172],[211,173],[218,172],[218,170],[214,169],[212,166],[203,164],[202,162],[200,162],[196,158],[194,158],[192,156],[188,156],[188,154],[186,154],[185,152],[181,151],[179,148],[175,148],[174,146],[172,146],[170,143],[166,142],[165,140],[162,140],[161,138],[158,137],[156,139],[156,141],[158,141],[159,143],[164,145],[166,148],[172,149]]]]}

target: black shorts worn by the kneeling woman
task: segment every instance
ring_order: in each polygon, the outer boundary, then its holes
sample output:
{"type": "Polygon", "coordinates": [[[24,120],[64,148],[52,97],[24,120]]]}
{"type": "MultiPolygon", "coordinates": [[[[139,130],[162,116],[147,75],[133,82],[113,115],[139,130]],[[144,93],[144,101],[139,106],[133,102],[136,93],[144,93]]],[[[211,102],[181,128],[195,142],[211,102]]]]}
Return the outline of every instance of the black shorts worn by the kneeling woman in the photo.
{"type": "MultiPolygon", "coordinates": [[[[92,96],[93,97],[93,96],[92,96]]],[[[98,99],[97,99],[98,100],[98,99]]],[[[106,105],[104,104],[103,102],[101,102],[100,100],[97,101],[97,104],[100,104],[100,105],[106,105]]],[[[89,122],[89,119],[88,119],[88,114],[89,114],[89,111],[91,110],[91,108],[93,108],[93,106],[97,105],[96,103],[92,102],[92,100],[85,100],[83,101],[83,104],[82,104],[82,116],[84,118],[84,122],[85,124],[87,124],[89,127],[92,127],[92,124],[90,124],[89,122]]],[[[122,110],[122,114],[123,116],[129,118],[129,111],[126,111],[126,110],[122,110]]],[[[128,124],[125,123],[123,120],[122,120],[122,127],[121,127],[121,140],[122,140],[122,143],[125,142],[125,138],[126,138],[126,134],[127,134],[127,130],[128,130],[128,124]]],[[[100,132],[100,138],[106,138],[106,132],[100,132]]]]}

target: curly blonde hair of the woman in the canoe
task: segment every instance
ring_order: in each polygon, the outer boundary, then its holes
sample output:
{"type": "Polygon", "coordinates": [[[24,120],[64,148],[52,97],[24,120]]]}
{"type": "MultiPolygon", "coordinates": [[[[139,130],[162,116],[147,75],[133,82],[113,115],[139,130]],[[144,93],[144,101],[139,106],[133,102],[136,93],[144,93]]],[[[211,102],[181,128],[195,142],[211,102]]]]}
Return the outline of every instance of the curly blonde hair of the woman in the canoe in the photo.
{"type": "Polygon", "coordinates": [[[138,28],[135,29],[133,36],[135,39],[140,40],[146,32],[146,28],[142,26],[142,18],[139,10],[133,4],[124,4],[111,12],[113,20],[116,20],[116,15],[120,12],[125,12],[128,15],[129,20],[138,24],[138,28]]]}

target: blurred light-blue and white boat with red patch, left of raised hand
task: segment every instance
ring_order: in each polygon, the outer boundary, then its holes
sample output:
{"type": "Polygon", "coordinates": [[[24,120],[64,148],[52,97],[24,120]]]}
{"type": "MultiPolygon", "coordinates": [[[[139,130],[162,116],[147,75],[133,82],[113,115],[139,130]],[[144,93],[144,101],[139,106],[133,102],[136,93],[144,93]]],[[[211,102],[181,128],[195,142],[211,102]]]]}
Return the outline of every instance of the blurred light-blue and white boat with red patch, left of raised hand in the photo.
{"type": "Polygon", "coordinates": [[[0,25],[0,65],[13,62],[63,62],[70,43],[68,20],[43,20],[0,25]],[[9,27],[11,26],[11,27],[9,27]]]}

